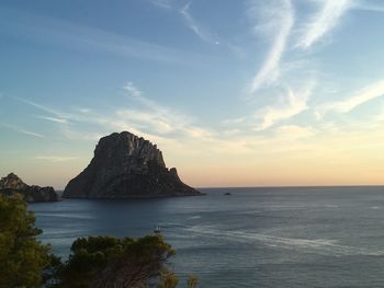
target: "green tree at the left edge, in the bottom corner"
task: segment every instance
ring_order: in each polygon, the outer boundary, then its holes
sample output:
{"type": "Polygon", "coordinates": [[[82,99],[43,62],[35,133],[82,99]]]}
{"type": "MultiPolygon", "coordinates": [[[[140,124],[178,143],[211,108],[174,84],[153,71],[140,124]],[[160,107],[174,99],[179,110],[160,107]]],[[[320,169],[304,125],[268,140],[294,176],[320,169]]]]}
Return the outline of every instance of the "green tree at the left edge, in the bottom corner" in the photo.
{"type": "Polygon", "coordinates": [[[0,194],[0,288],[38,287],[49,264],[49,246],[20,195],[0,194]]]}

